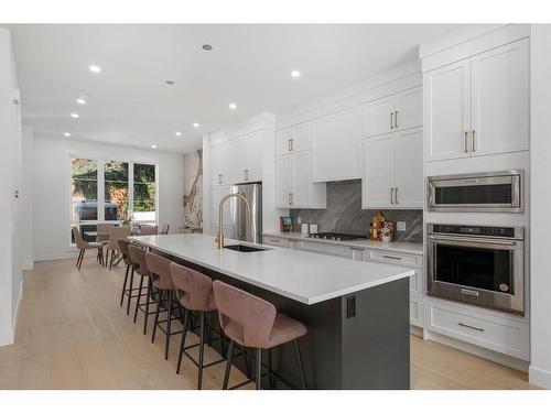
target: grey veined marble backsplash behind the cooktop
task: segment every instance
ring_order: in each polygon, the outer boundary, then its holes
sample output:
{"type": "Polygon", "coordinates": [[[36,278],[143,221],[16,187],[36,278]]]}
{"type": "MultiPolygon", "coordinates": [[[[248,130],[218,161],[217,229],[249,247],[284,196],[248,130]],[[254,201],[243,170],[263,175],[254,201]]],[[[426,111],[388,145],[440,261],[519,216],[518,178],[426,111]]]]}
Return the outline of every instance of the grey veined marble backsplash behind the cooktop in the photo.
{"type": "MultiPolygon", "coordinates": [[[[366,233],[377,209],[361,209],[361,181],[327,183],[327,209],[291,209],[293,220],[317,224],[318,232],[366,233]]],[[[395,241],[423,242],[421,209],[382,209],[391,221],[404,221],[406,231],[396,231],[395,241]]],[[[300,231],[300,226],[294,230],[300,231]]]]}

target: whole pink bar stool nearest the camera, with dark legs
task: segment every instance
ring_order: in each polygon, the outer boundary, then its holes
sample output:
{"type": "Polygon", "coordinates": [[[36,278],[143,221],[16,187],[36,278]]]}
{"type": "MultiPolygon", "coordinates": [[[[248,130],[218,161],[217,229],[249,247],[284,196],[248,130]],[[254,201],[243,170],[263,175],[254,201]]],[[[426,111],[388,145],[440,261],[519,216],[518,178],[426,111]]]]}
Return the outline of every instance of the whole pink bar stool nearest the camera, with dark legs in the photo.
{"type": "MultiPolygon", "coordinates": [[[[214,281],[213,290],[222,329],[230,339],[223,389],[228,388],[234,343],[256,350],[256,385],[257,390],[260,390],[262,387],[262,350],[269,350],[290,341],[294,341],[302,387],[306,389],[298,340],[299,337],[307,333],[306,327],[295,319],[278,314],[273,304],[222,281],[214,281]]],[[[268,374],[277,377],[271,370],[268,371],[268,374]]],[[[240,388],[251,381],[252,379],[246,380],[233,389],[240,388]]]]}

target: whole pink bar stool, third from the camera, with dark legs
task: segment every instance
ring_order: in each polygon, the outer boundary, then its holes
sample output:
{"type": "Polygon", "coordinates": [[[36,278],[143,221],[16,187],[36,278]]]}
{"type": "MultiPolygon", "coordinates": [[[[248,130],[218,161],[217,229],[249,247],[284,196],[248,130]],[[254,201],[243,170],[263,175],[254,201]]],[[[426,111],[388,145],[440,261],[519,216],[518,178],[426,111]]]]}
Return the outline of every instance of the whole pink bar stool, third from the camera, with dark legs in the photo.
{"type": "Polygon", "coordinates": [[[171,336],[182,333],[181,330],[172,332],[172,320],[177,318],[173,317],[173,311],[180,309],[180,306],[174,303],[174,284],[172,283],[171,268],[170,268],[172,261],[155,253],[145,251],[145,262],[149,272],[151,273],[151,279],[153,280],[153,286],[159,292],[159,297],[156,301],[155,322],[153,323],[153,335],[151,336],[151,343],[155,341],[155,333],[156,328],[159,327],[159,329],[163,332],[166,336],[166,341],[164,344],[164,359],[168,360],[171,336]],[[163,294],[165,295],[165,303],[168,304],[166,319],[160,322],[159,314],[161,312],[163,294]],[[166,322],[165,329],[163,329],[163,327],[161,326],[161,324],[164,322],[166,322]]]}

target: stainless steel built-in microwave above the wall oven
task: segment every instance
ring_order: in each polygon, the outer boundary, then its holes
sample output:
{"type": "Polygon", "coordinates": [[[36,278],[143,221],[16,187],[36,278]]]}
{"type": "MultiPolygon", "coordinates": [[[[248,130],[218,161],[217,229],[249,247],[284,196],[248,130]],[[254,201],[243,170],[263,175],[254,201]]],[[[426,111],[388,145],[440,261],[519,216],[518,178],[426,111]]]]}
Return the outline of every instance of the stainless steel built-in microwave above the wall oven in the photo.
{"type": "Polygon", "coordinates": [[[522,213],[523,171],[429,176],[428,209],[462,213],[522,213]]]}

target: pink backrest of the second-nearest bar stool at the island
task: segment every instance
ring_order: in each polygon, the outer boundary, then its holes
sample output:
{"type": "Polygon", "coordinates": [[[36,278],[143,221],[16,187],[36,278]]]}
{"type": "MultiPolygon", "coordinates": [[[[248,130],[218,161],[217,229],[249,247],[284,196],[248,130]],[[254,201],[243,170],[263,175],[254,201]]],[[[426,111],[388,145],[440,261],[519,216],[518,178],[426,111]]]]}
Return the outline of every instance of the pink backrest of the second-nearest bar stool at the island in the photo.
{"type": "Polygon", "coordinates": [[[186,306],[192,311],[207,311],[214,306],[213,280],[187,267],[171,263],[172,283],[187,296],[186,306]]]}

